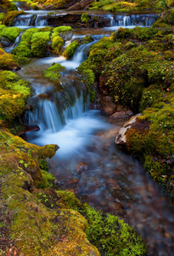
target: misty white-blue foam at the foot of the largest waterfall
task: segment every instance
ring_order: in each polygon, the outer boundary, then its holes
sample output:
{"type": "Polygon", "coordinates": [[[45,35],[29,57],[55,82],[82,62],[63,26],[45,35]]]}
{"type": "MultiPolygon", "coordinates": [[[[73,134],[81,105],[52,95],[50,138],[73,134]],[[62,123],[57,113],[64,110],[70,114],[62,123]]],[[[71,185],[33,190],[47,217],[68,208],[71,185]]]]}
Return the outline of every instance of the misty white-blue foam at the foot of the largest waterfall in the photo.
{"type": "Polygon", "coordinates": [[[58,157],[69,158],[75,154],[81,154],[90,143],[95,131],[109,129],[110,125],[98,118],[98,111],[89,110],[76,119],[67,119],[64,128],[58,132],[46,130],[38,131],[38,135],[31,143],[43,146],[45,144],[58,144],[58,157]]]}

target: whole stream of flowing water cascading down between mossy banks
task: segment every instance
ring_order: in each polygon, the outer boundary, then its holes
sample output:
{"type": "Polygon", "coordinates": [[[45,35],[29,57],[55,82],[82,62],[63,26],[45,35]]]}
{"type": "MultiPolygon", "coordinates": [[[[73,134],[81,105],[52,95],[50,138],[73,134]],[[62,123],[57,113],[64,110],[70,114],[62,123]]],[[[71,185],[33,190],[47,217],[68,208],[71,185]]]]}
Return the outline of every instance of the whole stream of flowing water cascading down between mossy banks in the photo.
{"type": "MultiPolygon", "coordinates": [[[[33,15],[34,11],[28,12],[33,15]]],[[[56,13],[64,14],[64,11],[56,13]]],[[[36,26],[48,25],[42,19],[47,12],[37,11],[36,15],[36,26]]],[[[26,112],[25,121],[39,125],[40,131],[29,133],[27,140],[38,145],[58,144],[60,148],[50,165],[60,187],[74,191],[81,201],[134,225],[147,241],[149,255],[172,256],[173,209],[138,161],[115,145],[115,136],[126,120],[115,121],[98,110],[90,110],[87,90],[76,72],[76,67],[87,59],[87,50],[92,44],[109,36],[118,26],[132,26],[131,20],[139,22],[140,19],[140,15],[107,15],[110,26],[74,33],[73,38],[91,34],[93,42],[81,44],[71,61],[62,56],[48,56],[29,61],[19,71],[36,91],[31,99],[36,108],[26,112]],[[42,75],[53,62],[66,68],[56,85],[42,75]]],[[[141,25],[151,25],[146,15],[141,18],[145,20],[141,25]]],[[[17,22],[15,26],[22,26],[22,21],[17,22]]],[[[26,23],[30,26],[28,20],[26,23]]],[[[70,41],[65,45],[68,44],[70,41]]]]}

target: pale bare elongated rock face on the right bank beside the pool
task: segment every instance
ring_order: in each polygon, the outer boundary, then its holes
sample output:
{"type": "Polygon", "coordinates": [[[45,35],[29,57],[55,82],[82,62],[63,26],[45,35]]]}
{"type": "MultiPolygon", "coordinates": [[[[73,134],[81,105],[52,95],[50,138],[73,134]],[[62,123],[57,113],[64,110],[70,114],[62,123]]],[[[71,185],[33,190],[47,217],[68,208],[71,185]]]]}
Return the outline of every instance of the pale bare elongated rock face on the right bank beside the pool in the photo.
{"type": "Polygon", "coordinates": [[[115,143],[116,144],[120,144],[120,145],[126,144],[126,131],[131,128],[132,124],[135,123],[136,120],[138,119],[138,117],[141,116],[141,115],[142,115],[141,113],[138,113],[138,114],[132,116],[132,118],[129,119],[123,125],[123,127],[120,129],[118,135],[115,138],[115,143]]]}

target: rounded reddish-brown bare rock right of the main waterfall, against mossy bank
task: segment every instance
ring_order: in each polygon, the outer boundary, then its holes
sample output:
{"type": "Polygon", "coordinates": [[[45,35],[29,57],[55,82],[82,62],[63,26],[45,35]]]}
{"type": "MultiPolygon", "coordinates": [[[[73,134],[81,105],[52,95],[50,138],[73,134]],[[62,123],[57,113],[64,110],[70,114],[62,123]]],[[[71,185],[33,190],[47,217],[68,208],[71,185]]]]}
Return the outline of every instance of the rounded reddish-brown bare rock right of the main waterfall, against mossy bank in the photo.
{"type": "Polygon", "coordinates": [[[116,105],[113,102],[111,96],[103,96],[100,103],[105,114],[110,115],[112,113],[115,113],[116,105]]]}

